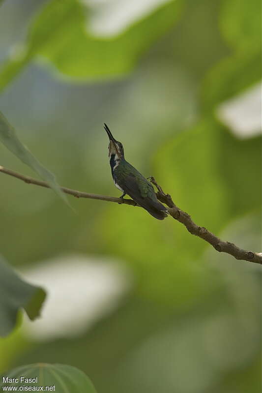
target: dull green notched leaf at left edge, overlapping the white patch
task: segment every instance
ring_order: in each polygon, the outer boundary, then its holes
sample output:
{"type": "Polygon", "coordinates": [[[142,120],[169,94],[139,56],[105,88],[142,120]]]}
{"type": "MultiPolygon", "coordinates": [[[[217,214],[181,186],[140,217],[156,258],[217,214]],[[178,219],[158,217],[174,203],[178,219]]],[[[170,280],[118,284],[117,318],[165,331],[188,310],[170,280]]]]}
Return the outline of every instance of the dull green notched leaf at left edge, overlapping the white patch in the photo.
{"type": "Polygon", "coordinates": [[[45,297],[42,288],[23,281],[0,258],[0,335],[11,332],[21,308],[31,320],[39,316],[45,297]]]}

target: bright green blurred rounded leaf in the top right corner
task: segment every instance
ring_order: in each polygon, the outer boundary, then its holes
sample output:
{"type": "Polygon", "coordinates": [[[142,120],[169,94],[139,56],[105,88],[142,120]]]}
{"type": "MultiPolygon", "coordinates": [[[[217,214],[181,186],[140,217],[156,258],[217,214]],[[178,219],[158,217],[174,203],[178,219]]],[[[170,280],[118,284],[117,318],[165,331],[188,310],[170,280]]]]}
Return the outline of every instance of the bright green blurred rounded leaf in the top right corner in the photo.
{"type": "Polygon", "coordinates": [[[226,41],[234,49],[261,51],[260,0],[224,0],[220,26],[226,41]]]}

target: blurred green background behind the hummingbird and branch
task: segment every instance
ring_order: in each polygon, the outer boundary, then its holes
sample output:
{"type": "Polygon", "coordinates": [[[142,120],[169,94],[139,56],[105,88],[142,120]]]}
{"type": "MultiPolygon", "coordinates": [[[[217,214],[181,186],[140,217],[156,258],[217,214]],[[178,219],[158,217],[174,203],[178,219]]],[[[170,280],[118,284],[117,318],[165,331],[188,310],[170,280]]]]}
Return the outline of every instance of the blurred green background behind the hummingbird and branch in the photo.
{"type": "MultiPolygon", "coordinates": [[[[237,138],[216,108],[261,80],[260,8],[170,1],[97,38],[76,0],[6,0],[0,110],[60,184],[117,196],[107,122],[126,158],[199,225],[259,251],[261,138],[237,138]]],[[[33,176],[2,145],[0,155],[33,176]]],[[[70,198],[74,214],[51,191],[0,181],[0,253],[10,264],[111,256],[135,281],[85,334],[39,344],[17,329],[0,339],[0,372],[41,361],[79,367],[99,393],[260,392],[259,266],[217,253],[171,218],[70,198]]]]}

